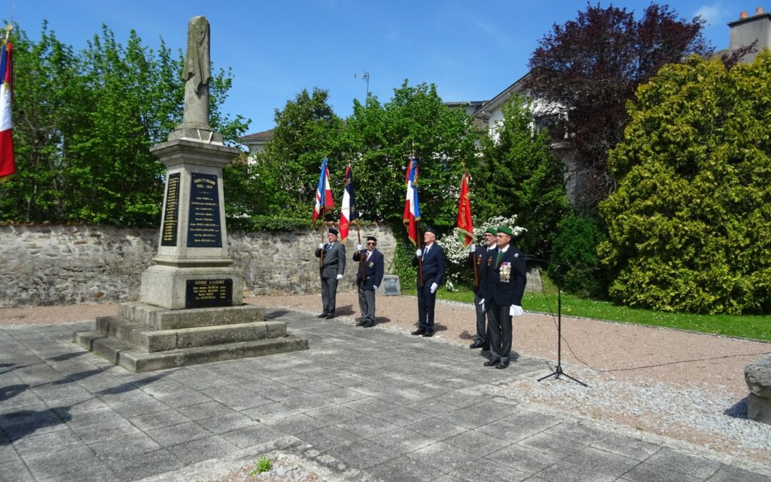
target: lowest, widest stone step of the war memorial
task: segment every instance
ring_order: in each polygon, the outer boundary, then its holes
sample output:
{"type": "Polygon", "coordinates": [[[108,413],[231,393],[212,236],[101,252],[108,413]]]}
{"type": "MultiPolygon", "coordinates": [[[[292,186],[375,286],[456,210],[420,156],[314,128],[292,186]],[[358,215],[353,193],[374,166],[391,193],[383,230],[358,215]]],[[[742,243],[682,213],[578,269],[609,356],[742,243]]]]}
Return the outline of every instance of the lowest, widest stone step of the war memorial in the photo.
{"type": "Polygon", "coordinates": [[[308,339],[291,335],[251,342],[173,349],[165,352],[143,352],[125,342],[108,338],[101,332],[77,332],[74,341],[90,352],[131,372],[149,372],[308,349],[308,339]]]}

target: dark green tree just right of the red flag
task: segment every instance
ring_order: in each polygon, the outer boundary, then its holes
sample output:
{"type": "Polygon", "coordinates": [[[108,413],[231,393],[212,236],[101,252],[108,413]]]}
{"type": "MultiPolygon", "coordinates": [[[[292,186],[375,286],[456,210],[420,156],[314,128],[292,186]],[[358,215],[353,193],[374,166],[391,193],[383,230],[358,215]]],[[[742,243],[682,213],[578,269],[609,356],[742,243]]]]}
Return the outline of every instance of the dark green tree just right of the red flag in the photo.
{"type": "Polygon", "coordinates": [[[474,195],[478,217],[517,215],[524,231],[517,248],[548,257],[557,223],[569,209],[563,167],[550,150],[547,130],[533,130],[530,101],[513,96],[503,122],[482,140],[483,169],[474,195]]]}

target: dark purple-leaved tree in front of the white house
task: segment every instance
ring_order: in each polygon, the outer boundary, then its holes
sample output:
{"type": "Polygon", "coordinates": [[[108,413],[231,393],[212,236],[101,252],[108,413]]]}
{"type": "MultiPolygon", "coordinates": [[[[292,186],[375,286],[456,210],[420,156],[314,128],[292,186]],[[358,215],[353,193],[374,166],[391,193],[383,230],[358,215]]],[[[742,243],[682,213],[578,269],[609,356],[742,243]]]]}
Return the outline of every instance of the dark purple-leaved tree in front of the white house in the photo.
{"type": "Polygon", "coordinates": [[[540,40],[530,57],[527,88],[567,113],[578,207],[594,207],[614,187],[608,150],[623,137],[625,104],[637,86],[665,64],[712,52],[702,37],[703,23],[698,17],[678,18],[668,5],[651,3],[635,19],[625,8],[587,4],[577,19],[554,24],[540,40]]]}

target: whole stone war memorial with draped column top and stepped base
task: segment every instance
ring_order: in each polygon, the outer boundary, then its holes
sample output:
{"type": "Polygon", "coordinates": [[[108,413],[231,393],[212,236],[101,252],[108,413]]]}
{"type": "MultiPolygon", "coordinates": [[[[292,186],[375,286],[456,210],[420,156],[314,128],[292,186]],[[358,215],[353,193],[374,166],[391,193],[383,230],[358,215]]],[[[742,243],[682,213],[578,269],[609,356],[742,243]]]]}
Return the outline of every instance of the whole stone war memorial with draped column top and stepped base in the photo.
{"type": "Polygon", "coordinates": [[[167,167],[155,265],[140,301],[96,319],[75,341],[133,372],[308,349],[286,323],[242,303],[243,276],[227,253],[222,168],[240,152],[209,125],[210,29],[190,20],[182,124],[150,149],[167,167]]]}

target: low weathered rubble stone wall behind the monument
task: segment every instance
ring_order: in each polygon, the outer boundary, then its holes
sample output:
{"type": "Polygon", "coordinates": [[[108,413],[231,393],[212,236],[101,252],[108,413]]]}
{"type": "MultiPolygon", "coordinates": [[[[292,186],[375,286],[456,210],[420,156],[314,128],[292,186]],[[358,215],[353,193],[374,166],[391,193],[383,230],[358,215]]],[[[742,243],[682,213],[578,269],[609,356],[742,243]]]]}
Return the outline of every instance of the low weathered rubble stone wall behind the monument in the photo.
{"type": "MultiPolygon", "coordinates": [[[[362,229],[362,237],[378,238],[385,272],[392,272],[396,248],[388,226],[362,229]]],[[[349,265],[339,285],[355,290],[353,231],[345,241],[349,265]]],[[[318,231],[288,233],[228,232],[228,250],[244,273],[244,291],[319,292],[318,231]]],[[[157,253],[157,229],[96,226],[0,226],[0,308],[66,305],[81,302],[133,301],[139,296],[143,271],[157,253]]]]}

